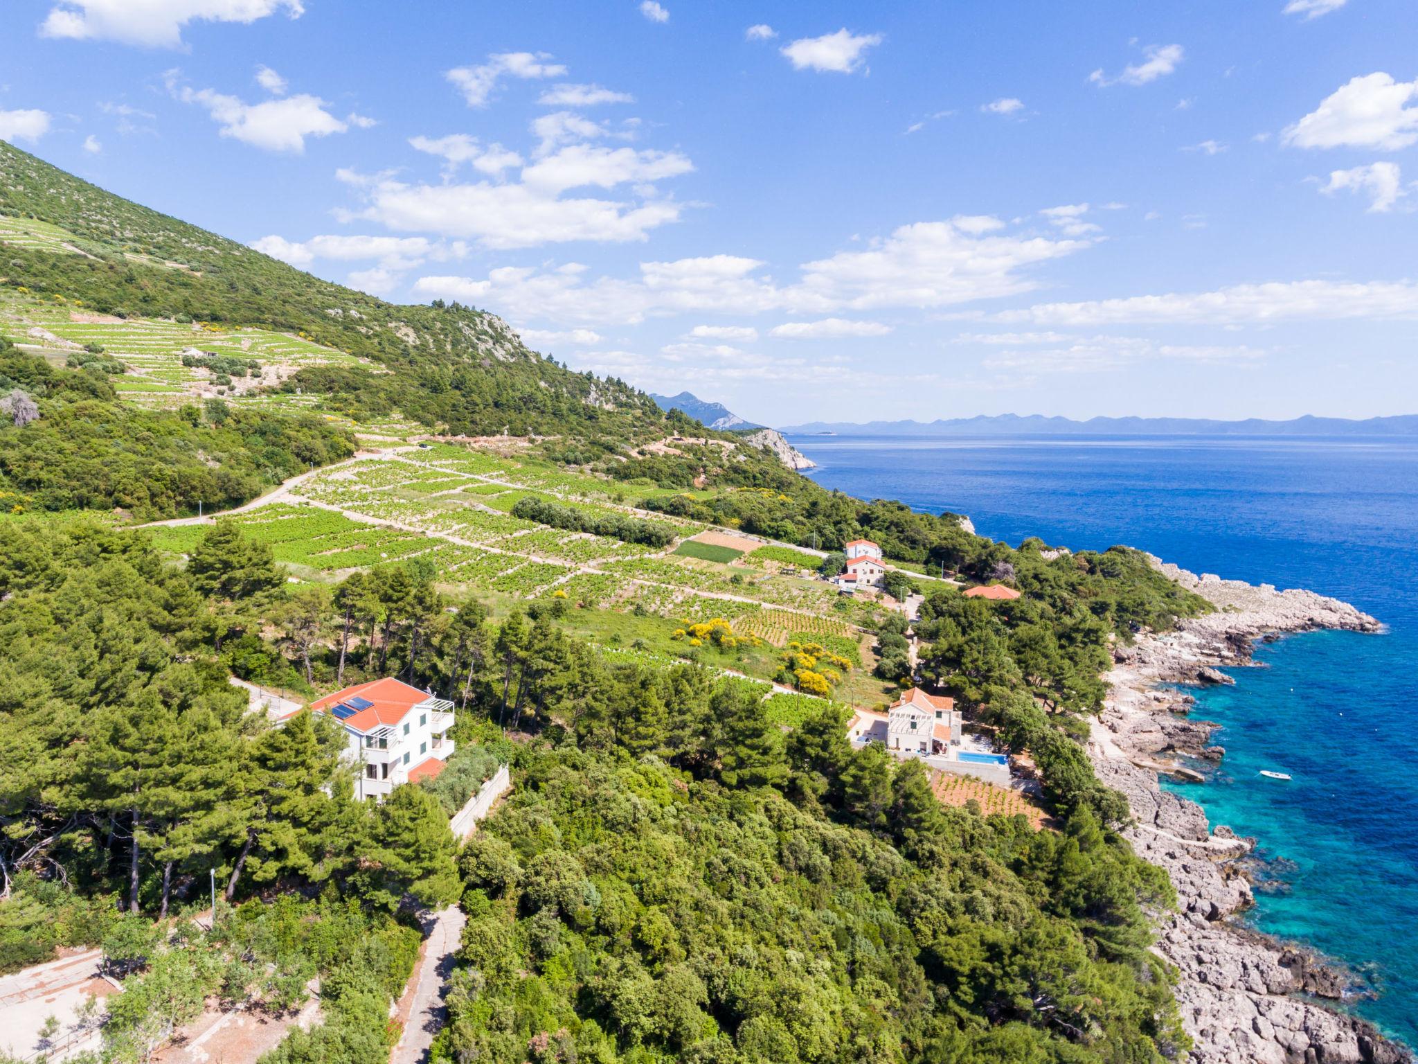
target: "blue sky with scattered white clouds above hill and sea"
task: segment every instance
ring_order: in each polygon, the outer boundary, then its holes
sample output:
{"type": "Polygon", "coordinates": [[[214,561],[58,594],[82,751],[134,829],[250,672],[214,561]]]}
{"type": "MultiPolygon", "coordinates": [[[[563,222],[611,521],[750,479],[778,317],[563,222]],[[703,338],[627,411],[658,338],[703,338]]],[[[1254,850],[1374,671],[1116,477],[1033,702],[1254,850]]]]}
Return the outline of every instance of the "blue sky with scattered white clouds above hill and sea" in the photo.
{"type": "Polygon", "coordinates": [[[1411,0],[0,18],[0,138],[752,420],[1418,411],[1411,0]]]}

